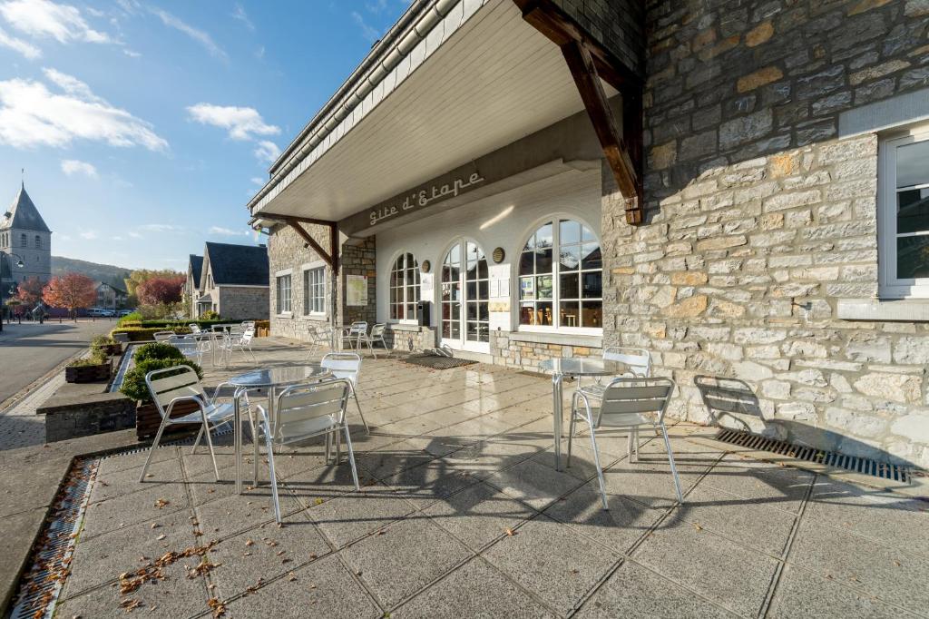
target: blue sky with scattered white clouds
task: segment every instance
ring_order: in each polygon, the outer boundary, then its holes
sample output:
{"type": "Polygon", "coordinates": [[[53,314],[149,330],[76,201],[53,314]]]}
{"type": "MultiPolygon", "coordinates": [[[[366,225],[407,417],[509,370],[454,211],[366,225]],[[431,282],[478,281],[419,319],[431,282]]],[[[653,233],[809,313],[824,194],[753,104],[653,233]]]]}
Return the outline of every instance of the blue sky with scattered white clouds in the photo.
{"type": "Polygon", "coordinates": [[[409,5],[0,0],[0,204],[24,177],[54,256],[125,268],[264,242],[268,166],[409,5]]]}

